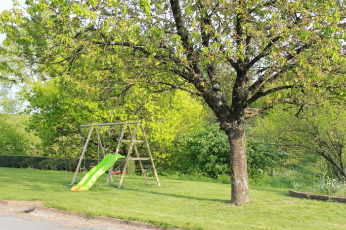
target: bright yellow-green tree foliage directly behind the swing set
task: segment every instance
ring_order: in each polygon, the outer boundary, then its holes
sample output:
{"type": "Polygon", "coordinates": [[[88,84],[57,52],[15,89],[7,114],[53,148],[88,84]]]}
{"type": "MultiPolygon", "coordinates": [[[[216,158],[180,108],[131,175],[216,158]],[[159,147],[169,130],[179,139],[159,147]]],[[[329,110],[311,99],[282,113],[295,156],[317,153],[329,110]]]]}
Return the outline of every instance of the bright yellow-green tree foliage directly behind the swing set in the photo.
{"type": "MultiPolygon", "coordinates": [[[[114,100],[100,89],[89,91],[76,85],[65,85],[58,77],[45,84],[36,83],[25,96],[30,102],[29,111],[33,113],[28,130],[36,131],[42,139],[44,156],[76,157],[80,147],[80,125],[143,119],[154,158],[159,165],[167,167],[173,164],[170,149],[174,140],[181,132],[199,126],[204,117],[203,106],[185,92],[147,95],[143,94],[144,90],[133,86],[121,98],[114,100]]],[[[108,129],[100,130],[101,139],[103,132],[106,148],[115,151],[119,128],[113,127],[110,131],[110,144],[108,129]]],[[[86,129],[83,133],[87,136],[86,129]]],[[[121,154],[126,154],[126,149],[121,149],[121,154]]],[[[96,155],[94,134],[87,156],[96,155]]]]}

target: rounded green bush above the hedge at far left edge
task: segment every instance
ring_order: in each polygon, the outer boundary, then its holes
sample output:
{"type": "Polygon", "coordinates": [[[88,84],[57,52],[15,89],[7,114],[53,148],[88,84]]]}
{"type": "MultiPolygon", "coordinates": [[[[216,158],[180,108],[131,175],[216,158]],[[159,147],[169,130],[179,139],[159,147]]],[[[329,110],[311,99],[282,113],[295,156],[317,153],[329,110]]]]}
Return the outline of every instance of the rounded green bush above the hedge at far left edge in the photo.
{"type": "Polygon", "coordinates": [[[17,126],[6,122],[7,117],[0,114],[0,154],[26,154],[29,140],[17,126]]]}

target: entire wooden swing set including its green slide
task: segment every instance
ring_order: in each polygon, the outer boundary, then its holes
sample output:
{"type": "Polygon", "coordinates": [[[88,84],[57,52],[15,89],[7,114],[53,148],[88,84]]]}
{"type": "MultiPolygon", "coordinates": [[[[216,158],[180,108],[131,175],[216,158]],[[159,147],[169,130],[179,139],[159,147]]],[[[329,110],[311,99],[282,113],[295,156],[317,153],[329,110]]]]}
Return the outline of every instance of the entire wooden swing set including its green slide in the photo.
{"type": "MultiPolygon", "coordinates": [[[[90,127],[90,130],[89,130],[89,133],[87,135],[87,139],[85,141],[85,144],[84,144],[84,147],[83,147],[83,151],[81,153],[81,156],[80,156],[80,159],[79,159],[79,162],[78,162],[78,165],[77,165],[77,168],[76,168],[76,171],[75,171],[75,174],[73,176],[71,184],[75,183],[75,180],[76,180],[76,177],[77,177],[77,173],[78,173],[78,171],[79,171],[79,169],[81,167],[82,160],[85,159],[84,156],[85,156],[85,152],[86,152],[86,149],[87,149],[87,144],[89,142],[89,139],[90,139],[90,136],[91,136],[91,133],[92,133],[93,130],[96,131],[98,148],[101,149],[101,151],[103,153],[103,156],[104,156],[104,159],[99,164],[97,164],[95,167],[93,167],[87,173],[87,175],[82,179],[82,181],[80,183],[78,183],[76,186],[73,186],[71,188],[71,191],[85,191],[85,190],[89,189],[95,183],[97,178],[100,175],[102,175],[102,173],[107,171],[107,169],[108,169],[108,176],[107,176],[105,185],[108,185],[109,179],[111,179],[113,181],[112,173],[113,173],[113,167],[114,167],[115,162],[118,159],[125,158],[124,156],[118,154],[122,143],[130,143],[130,146],[129,146],[128,153],[127,153],[127,156],[126,156],[125,161],[124,161],[125,164],[124,164],[122,175],[121,175],[121,178],[120,178],[120,181],[119,181],[118,189],[120,189],[121,186],[122,186],[122,183],[123,183],[123,180],[124,180],[124,176],[125,176],[125,173],[126,173],[126,168],[127,168],[127,165],[128,165],[129,161],[139,161],[139,166],[140,166],[140,169],[141,169],[141,172],[143,174],[144,181],[145,181],[146,184],[148,184],[147,180],[156,180],[157,185],[161,186],[160,185],[160,181],[159,181],[159,177],[158,177],[157,172],[156,172],[156,168],[155,168],[155,164],[154,164],[154,161],[153,161],[153,157],[152,157],[152,154],[151,154],[151,151],[150,151],[148,139],[146,137],[146,134],[145,134],[145,131],[144,131],[144,128],[143,128],[143,125],[142,125],[141,121],[81,125],[82,129],[83,128],[87,128],[87,127],[90,127]],[[134,130],[133,133],[131,131],[130,125],[135,125],[135,130],[134,130]],[[107,126],[109,127],[109,129],[108,129],[109,131],[110,131],[110,127],[111,126],[119,126],[119,128],[120,128],[120,126],[123,126],[123,129],[122,129],[122,132],[120,134],[118,145],[117,145],[117,149],[116,149],[115,153],[114,154],[107,154],[107,156],[105,156],[104,132],[103,132],[103,143],[104,144],[102,144],[102,142],[100,140],[100,136],[99,136],[99,131],[100,131],[100,128],[103,129],[103,127],[107,127],[107,126]],[[144,140],[138,140],[137,139],[137,132],[138,132],[139,128],[142,131],[142,135],[143,135],[143,139],[144,140]],[[125,131],[127,129],[129,131],[129,134],[130,134],[130,140],[123,139],[125,131]],[[148,152],[148,157],[139,157],[139,153],[138,153],[138,150],[137,150],[136,143],[145,143],[145,146],[146,146],[146,149],[147,149],[147,152],[148,152]],[[132,152],[132,148],[134,149],[134,153],[135,153],[136,157],[130,157],[131,152],[132,152]],[[142,161],[150,161],[151,164],[143,165],[142,161]],[[148,167],[149,167],[149,169],[151,168],[152,171],[148,171],[148,167]],[[144,168],[146,168],[146,170],[144,170],[144,168]],[[147,178],[147,176],[146,176],[147,173],[153,173],[155,175],[155,179],[147,178]]],[[[114,169],[114,171],[117,171],[120,168],[121,165],[122,164],[120,164],[116,169],[114,169]]]]}

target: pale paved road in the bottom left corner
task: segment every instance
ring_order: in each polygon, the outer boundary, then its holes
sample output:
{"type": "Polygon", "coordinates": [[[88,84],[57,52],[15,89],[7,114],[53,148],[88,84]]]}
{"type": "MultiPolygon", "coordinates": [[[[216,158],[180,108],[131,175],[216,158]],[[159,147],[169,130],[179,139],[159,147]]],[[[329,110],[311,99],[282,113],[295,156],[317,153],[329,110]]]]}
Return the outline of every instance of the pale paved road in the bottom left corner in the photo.
{"type": "Polygon", "coordinates": [[[33,210],[28,205],[0,204],[0,230],[148,230],[82,217],[33,210]],[[25,213],[25,210],[31,212],[25,213]]]}

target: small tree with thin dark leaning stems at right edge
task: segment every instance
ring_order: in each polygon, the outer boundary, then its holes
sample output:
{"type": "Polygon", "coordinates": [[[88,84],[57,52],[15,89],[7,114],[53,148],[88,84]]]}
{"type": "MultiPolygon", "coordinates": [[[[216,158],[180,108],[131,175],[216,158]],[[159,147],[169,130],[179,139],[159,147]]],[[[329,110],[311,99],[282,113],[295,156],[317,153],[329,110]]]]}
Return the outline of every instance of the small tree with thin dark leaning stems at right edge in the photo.
{"type": "Polygon", "coordinates": [[[345,104],[328,101],[306,106],[302,114],[282,122],[277,138],[291,149],[322,157],[333,176],[346,178],[346,112],[345,104]]]}

